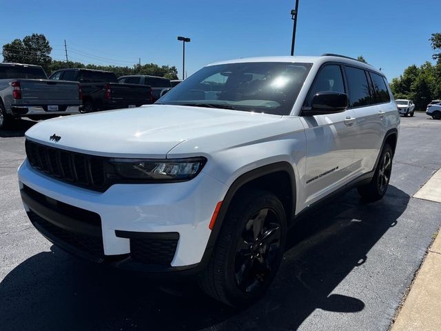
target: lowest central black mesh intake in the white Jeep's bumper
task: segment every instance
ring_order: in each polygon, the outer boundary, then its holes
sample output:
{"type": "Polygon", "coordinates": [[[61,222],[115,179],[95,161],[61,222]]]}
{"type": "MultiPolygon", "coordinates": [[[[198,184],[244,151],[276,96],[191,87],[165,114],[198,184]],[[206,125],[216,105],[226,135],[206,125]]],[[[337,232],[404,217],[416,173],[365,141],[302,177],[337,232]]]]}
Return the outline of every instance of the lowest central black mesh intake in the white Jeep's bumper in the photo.
{"type": "Polygon", "coordinates": [[[39,217],[39,215],[32,211],[28,212],[28,217],[37,229],[42,228],[43,234],[55,243],[62,241],[77,250],[92,254],[94,257],[104,257],[103,239],[68,232],[39,217]]]}

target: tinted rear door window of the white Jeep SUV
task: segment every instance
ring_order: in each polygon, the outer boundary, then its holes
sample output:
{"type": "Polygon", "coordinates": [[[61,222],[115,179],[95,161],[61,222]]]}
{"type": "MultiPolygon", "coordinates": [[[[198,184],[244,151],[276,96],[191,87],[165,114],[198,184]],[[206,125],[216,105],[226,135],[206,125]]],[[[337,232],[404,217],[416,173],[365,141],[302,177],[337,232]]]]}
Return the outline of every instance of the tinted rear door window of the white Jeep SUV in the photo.
{"type": "Polygon", "coordinates": [[[349,88],[349,106],[360,107],[371,103],[369,83],[365,70],[346,67],[346,78],[349,88]]]}

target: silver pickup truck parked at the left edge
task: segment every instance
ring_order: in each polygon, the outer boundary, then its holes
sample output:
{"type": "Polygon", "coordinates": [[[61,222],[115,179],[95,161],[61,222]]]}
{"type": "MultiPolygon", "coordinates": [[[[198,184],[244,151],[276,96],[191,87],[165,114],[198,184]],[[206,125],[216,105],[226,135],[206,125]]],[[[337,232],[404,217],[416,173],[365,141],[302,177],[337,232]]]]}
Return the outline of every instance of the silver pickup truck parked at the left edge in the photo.
{"type": "Polygon", "coordinates": [[[79,83],[50,80],[41,66],[0,63],[0,128],[20,117],[79,113],[81,94],[79,83]]]}

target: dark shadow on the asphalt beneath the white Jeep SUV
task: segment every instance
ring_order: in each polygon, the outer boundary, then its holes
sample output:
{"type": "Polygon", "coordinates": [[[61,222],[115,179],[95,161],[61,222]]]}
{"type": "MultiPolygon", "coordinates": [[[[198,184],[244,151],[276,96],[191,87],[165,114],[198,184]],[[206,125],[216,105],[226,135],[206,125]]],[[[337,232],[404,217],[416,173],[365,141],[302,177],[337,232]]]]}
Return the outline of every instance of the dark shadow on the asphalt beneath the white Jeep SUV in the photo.
{"type": "Polygon", "coordinates": [[[206,297],[194,283],[161,285],[52,246],[0,283],[1,330],[295,330],[318,308],[359,312],[360,299],[332,292],[365,263],[409,199],[389,186],[384,199],[367,204],[351,190],[303,218],[289,231],[274,284],[245,310],[206,297]]]}

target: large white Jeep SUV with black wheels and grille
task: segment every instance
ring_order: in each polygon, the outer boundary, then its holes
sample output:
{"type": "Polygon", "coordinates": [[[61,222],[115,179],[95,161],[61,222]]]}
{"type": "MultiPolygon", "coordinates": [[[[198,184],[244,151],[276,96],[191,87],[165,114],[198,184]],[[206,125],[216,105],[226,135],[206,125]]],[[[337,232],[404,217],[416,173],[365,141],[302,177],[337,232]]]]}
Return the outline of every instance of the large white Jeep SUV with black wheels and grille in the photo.
{"type": "Polygon", "coordinates": [[[301,215],[353,187],[382,198],[399,123],[382,72],[360,61],[225,61],[154,105],[38,123],[19,188],[32,224],[64,250],[197,275],[212,297],[246,305],[301,215]]]}

